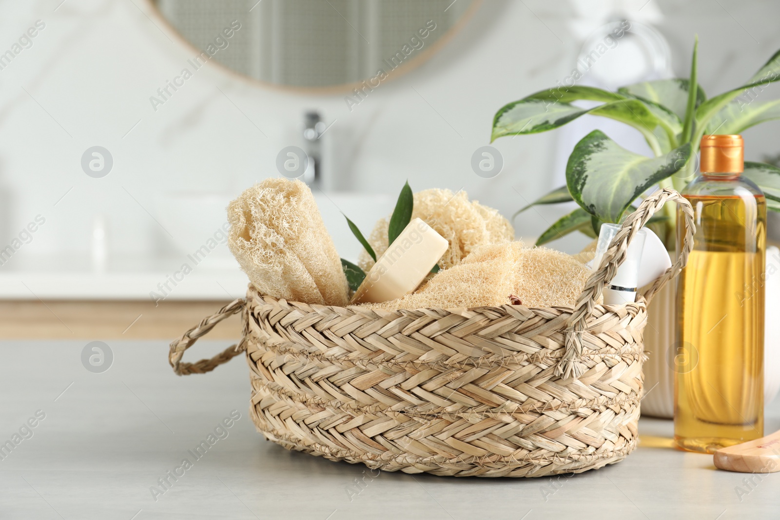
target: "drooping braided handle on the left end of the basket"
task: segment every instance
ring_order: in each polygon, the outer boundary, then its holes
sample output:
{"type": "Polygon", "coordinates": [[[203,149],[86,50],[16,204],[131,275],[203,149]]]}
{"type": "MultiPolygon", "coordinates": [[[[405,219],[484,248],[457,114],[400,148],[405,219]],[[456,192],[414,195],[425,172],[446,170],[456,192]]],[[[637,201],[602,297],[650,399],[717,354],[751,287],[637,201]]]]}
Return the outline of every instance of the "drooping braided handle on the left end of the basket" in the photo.
{"type": "Polygon", "coordinates": [[[184,351],[187,348],[190,348],[198,338],[208,334],[208,332],[211,331],[211,329],[213,329],[216,324],[222,320],[225,320],[225,318],[229,318],[233,314],[242,312],[245,306],[246,302],[243,298],[235,299],[226,306],[222,307],[222,309],[218,310],[216,313],[209,317],[205,317],[200,321],[200,324],[197,324],[189,331],[186,331],[181,338],[172,341],[171,350],[168,352],[168,363],[171,363],[173,371],[178,373],[179,376],[186,376],[190,373],[211,372],[211,370],[214,370],[217,366],[222,365],[222,363],[229,362],[230,359],[238,356],[241,352],[243,352],[243,341],[244,338],[246,338],[246,320],[243,320],[243,336],[241,341],[239,341],[236,345],[230,345],[228,348],[225,348],[224,351],[218,353],[211,359],[200,359],[200,361],[196,363],[182,363],[182,356],[184,356],[184,351]]]}

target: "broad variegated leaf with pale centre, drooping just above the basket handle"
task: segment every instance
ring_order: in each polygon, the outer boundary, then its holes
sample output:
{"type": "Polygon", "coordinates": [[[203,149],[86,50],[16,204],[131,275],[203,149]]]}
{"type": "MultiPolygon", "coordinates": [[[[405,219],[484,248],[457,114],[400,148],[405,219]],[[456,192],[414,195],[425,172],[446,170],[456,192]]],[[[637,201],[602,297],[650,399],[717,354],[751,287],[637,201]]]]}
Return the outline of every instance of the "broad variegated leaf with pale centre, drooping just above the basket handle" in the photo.
{"type": "Polygon", "coordinates": [[[574,147],[566,165],[566,185],[588,213],[606,222],[618,222],[636,197],[678,172],[689,157],[689,143],[650,158],[634,154],[594,130],[574,147]]]}

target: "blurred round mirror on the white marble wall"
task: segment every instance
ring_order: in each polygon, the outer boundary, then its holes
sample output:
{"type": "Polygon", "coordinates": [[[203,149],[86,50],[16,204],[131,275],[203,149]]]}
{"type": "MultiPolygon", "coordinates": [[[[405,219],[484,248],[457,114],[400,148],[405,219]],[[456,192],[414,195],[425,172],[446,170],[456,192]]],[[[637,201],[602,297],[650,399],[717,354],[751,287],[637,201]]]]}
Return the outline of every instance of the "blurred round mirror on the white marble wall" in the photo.
{"type": "MultiPolygon", "coordinates": [[[[151,0],[198,54],[285,87],[333,90],[411,69],[480,0],[151,0]]],[[[194,65],[193,65],[194,66],[194,65]]]]}

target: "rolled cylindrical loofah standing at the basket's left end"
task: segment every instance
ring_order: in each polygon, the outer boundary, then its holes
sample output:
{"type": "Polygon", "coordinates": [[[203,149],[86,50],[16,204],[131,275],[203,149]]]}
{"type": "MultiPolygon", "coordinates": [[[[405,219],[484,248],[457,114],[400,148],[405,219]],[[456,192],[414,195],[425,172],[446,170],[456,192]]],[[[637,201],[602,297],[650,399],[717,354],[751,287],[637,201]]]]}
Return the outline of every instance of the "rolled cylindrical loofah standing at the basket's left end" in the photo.
{"type": "Polygon", "coordinates": [[[346,305],[341,259],[306,184],[265,179],[229,204],[228,221],[228,246],[262,294],[346,305]]]}

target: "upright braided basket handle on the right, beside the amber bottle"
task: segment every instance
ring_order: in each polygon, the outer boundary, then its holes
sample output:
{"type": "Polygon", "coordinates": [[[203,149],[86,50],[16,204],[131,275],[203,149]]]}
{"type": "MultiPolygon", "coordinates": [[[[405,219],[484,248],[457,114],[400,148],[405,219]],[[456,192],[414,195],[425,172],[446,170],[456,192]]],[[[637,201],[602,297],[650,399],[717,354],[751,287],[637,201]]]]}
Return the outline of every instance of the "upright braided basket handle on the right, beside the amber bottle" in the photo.
{"type": "Polygon", "coordinates": [[[664,204],[673,200],[679,204],[683,210],[683,222],[685,225],[685,239],[683,240],[683,250],[672,267],[669,267],[664,274],[661,274],[653,285],[640,296],[647,302],[653,298],[656,292],[660,291],[664,284],[674,278],[688,262],[688,254],[693,249],[693,233],[696,231],[696,225],[693,224],[693,208],[690,202],[674,189],[659,189],[651,196],[647,197],[632,214],[623,222],[615,239],[610,243],[606,253],[601,259],[601,265],[597,266],[597,271],[590,275],[580,298],[577,299],[576,306],[566,327],[566,353],[555,367],[555,373],[563,377],[580,377],[586,370],[582,363],[583,352],[583,332],[586,329],[588,318],[593,314],[596,301],[601,296],[601,291],[605,284],[612,281],[618,272],[618,267],[626,260],[629,242],[639,232],[640,228],[650,221],[653,214],[664,207],[664,204]]]}

